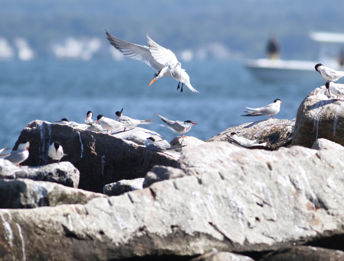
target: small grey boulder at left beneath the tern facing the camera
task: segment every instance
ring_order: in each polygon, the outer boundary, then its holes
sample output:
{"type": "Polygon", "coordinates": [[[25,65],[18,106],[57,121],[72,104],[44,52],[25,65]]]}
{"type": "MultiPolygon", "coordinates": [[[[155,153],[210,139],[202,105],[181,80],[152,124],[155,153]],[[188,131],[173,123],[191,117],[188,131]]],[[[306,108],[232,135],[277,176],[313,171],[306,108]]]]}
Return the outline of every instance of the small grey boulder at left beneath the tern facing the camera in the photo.
{"type": "Polygon", "coordinates": [[[28,178],[32,180],[50,181],[62,184],[67,187],[77,188],[79,185],[80,173],[72,163],[63,161],[39,167],[22,166],[12,173],[0,175],[3,179],[28,178]]]}

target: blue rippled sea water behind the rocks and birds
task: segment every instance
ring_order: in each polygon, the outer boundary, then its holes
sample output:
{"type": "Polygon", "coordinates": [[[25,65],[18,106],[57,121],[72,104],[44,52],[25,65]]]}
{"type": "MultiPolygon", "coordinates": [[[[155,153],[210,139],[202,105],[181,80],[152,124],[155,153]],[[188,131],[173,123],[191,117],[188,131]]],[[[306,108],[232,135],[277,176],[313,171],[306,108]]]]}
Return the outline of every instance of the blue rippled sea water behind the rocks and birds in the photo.
{"type": "Polygon", "coordinates": [[[241,117],[244,106],[261,107],[280,98],[278,119],[293,119],[302,100],[325,80],[314,70],[311,79],[259,82],[239,61],[182,62],[190,76],[193,93],[178,82],[163,77],[151,86],[154,70],[146,64],[124,59],[90,61],[0,61],[2,123],[0,147],[14,146],[22,129],[35,119],[55,122],[61,118],[84,123],[87,111],[94,117],[123,115],[154,118],[143,125],[171,141],[179,134],[159,126],[158,113],[171,120],[191,120],[186,135],[205,140],[224,129],[269,116],[241,117]]]}

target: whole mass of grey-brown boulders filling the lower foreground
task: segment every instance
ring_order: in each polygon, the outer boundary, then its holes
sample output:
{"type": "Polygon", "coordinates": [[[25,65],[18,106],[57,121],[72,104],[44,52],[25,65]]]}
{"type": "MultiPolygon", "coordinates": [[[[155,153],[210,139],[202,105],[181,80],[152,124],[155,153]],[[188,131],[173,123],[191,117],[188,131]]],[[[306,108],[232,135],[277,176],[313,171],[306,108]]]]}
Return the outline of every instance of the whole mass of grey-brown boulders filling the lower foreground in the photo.
{"type": "Polygon", "coordinates": [[[157,153],[114,135],[34,121],[30,156],[0,161],[2,260],[344,260],[344,102],[316,88],[294,120],[230,127],[157,153]],[[343,104],[342,104],[343,103],[343,104]],[[269,142],[247,149],[226,134],[269,142]],[[47,156],[58,140],[67,156],[47,156]]]}

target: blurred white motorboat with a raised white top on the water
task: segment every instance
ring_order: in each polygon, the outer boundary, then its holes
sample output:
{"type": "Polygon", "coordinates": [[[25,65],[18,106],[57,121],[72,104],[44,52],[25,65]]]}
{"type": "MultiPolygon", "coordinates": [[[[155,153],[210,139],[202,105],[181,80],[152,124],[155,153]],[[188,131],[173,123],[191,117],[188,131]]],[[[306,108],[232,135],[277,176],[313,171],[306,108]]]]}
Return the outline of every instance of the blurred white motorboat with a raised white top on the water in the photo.
{"type": "MultiPolygon", "coordinates": [[[[316,75],[314,66],[317,63],[343,71],[344,49],[341,50],[340,47],[343,48],[344,34],[310,32],[309,36],[313,41],[323,43],[318,61],[247,59],[244,61],[244,66],[256,79],[264,82],[307,81],[316,75]],[[340,53],[341,55],[339,55],[340,53]]],[[[321,80],[319,78],[319,81],[321,80]]]]}

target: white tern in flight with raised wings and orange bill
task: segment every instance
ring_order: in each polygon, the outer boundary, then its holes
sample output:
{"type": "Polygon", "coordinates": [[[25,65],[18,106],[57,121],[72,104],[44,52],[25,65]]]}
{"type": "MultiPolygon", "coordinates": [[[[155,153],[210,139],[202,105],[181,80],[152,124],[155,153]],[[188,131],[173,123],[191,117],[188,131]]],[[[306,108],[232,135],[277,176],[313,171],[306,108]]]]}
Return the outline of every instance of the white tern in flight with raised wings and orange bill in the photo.
{"type": "Polygon", "coordinates": [[[198,93],[191,86],[189,75],[182,69],[181,63],[178,62],[174,53],[155,43],[148,35],[148,46],[145,46],[126,42],[108,33],[106,30],[105,32],[110,44],[118,51],[129,58],[145,62],[154,70],[157,70],[149,85],[163,76],[171,76],[179,82],[177,90],[180,88],[180,83],[182,83],[180,92],[183,92],[183,84],[185,84],[191,91],[198,93]]]}

